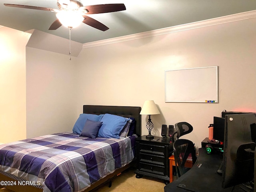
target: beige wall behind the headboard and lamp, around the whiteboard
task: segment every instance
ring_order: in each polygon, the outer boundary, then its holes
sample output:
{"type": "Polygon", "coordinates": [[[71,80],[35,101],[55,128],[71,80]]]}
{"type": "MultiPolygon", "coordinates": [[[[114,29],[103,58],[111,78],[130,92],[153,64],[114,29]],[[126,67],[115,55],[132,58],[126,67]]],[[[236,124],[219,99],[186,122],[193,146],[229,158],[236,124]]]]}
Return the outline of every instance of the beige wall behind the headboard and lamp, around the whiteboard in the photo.
{"type": "MultiPolygon", "coordinates": [[[[194,130],[184,138],[200,147],[222,110],[256,112],[255,23],[252,18],[85,48],[77,64],[77,107],[154,100],[161,114],[152,116],[152,134],[160,136],[162,124],[186,121],[194,130]],[[218,104],[165,103],[165,70],[205,66],[219,66],[218,104]]],[[[142,134],[147,119],[142,116],[142,134]]]]}

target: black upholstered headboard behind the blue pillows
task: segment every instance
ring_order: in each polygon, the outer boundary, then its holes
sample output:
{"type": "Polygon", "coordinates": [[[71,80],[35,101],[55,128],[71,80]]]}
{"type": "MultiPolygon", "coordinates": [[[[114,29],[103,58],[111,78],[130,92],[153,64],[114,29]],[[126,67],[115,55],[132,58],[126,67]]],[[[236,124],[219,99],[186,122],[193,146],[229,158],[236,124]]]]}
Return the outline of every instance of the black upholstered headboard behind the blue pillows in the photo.
{"type": "Polygon", "coordinates": [[[130,106],[103,106],[103,105],[84,105],[83,113],[87,114],[113,114],[122,117],[133,117],[136,120],[134,133],[138,136],[141,135],[141,107],[130,107],[130,106]]]}

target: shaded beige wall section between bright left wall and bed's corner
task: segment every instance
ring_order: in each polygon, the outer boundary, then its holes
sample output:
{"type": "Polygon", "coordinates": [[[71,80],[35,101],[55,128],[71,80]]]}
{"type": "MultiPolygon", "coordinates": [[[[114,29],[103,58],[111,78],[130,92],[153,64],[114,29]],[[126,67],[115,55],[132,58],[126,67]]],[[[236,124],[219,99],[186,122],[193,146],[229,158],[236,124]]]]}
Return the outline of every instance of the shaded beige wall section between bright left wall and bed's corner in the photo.
{"type": "MultiPolygon", "coordinates": [[[[68,49],[68,46],[67,46],[68,49]]],[[[26,137],[71,131],[76,120],[76,58],[26,48],[26,137]]]]}

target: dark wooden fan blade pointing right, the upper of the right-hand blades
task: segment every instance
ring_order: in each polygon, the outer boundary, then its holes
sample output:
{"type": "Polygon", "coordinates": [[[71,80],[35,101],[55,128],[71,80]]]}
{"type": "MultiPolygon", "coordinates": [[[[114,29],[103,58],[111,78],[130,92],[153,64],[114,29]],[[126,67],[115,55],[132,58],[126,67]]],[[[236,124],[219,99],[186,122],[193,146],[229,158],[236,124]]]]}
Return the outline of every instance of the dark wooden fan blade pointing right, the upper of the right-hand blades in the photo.
{"type": "Polygon", "coordinates": [[[126,10],[124,4],[101,4],[83,6],[82,9],[88,11],[86,14],[109,13],[126,10]]]}

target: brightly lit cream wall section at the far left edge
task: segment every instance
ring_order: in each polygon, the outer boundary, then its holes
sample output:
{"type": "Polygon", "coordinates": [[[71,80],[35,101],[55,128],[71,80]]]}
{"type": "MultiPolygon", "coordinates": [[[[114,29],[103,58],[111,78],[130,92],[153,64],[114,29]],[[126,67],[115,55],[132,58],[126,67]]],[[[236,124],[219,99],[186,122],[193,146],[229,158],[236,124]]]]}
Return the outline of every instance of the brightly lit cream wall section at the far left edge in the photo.
{"type": "Polygon", "coordinates": [[[0,28],[0,143],[26,138],[26,44],[30,34],[0,28]]]}

